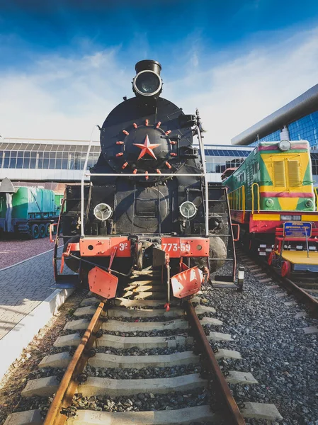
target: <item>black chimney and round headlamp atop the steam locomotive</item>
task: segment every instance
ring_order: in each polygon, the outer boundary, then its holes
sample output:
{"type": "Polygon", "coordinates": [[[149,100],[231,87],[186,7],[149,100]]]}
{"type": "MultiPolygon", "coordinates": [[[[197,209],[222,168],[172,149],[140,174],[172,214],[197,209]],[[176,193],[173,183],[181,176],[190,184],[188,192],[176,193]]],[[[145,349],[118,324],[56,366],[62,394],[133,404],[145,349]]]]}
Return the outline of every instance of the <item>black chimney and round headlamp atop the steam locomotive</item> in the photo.
{"type": "Polygon", "coordinates": [[[161,64],[156,60],[141,60],[135,65],[136,76],[132,80],[132,90],[136,96],[157,98],[161,94],[161,64]]]}

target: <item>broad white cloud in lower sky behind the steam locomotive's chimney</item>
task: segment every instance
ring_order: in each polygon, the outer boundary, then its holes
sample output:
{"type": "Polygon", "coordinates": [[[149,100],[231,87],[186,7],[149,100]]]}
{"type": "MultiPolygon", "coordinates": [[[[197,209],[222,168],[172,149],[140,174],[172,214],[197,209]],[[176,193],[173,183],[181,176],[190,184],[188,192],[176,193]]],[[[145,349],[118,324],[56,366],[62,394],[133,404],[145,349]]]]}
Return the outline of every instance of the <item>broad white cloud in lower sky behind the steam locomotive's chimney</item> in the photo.
{"type": "MultiPolygon", "coordinates": [[[[164,75],[163,96],[186,113],[200,109],[209,130],[206,143],[229,144],[231,137],[317,84],[317,35],[314,30],[284,40],[280,33],[275,44],[245,45],[239,57],[237,47],[227,50],[210,67],[200,57],[201,47],[191,52],[182,77],[172,81],[164,75]]],[[[122,96],[132,94],[135,64],[123,65],[119,50],[76,58],[50,55],[24,72],[2,72],[2,137],[88,139],[93,125],[101,125],[122,96]]]]}

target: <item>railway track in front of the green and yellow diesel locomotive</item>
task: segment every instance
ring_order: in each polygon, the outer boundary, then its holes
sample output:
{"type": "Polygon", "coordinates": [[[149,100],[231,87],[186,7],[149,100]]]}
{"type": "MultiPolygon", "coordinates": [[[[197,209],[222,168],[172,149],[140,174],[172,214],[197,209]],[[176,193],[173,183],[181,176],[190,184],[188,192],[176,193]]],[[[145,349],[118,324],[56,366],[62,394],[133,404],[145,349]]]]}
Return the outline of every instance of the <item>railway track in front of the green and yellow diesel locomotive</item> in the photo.
{"type": "Polygon", "coordinates": [[[269,266],[267,261],[259,259],[259,257],[246,253],[242,249],[238,251],[243,261],[251,260],[247,263],[247,268],[256,270],[261,268],[261,273],[256,273],[258,278],[273,279],[282,286],[288,294],[293,294],[303,304],[307,306],[314,317],[318,317],[318,282],[317,276],[305,277],[303,274],[295,273],[292,279],[280,276],[275,268],[269,266]]]}

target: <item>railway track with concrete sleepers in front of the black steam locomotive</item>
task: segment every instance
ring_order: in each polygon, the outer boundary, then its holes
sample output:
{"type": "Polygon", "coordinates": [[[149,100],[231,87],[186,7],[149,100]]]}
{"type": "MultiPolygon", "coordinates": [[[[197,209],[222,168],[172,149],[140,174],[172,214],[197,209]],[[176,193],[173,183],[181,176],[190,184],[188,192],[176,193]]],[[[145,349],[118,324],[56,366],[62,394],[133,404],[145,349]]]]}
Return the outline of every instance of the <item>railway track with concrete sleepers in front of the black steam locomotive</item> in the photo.
{"type": "Polygon", "coordinates": [[[220,359],[239,361],[241,355],[212,349],[231,339],[214,330],[222,326],[215,309],[195,296],[182,305],[172,302],[166,312],[159,283],[149,271],[133,276],[113,302],[84,299],[55,341],[57,352],[42,359],[44,376],[29,380],[21,395],[51,397],[48,411],[16,412],[5,425],[241,425],[244,417],[281,419],[273,404],[246,402],[239,409],[229,385],[257,381],[249,372],[222,373],[220,359]]]}

